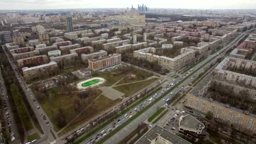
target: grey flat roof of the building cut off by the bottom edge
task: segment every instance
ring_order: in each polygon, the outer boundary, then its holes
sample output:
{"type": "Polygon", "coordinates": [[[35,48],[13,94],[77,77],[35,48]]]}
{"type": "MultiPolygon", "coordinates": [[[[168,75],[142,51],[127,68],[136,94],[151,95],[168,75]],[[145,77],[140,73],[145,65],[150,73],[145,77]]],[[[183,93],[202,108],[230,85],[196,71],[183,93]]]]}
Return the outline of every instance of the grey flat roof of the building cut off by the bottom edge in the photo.
{"type": "Polygon", "coordinates": [[[182,139],[181,137],[171,133],[170,131],[155,125],[144,134],[135,144],[151,144],[151,141],[155,140],[158,136],[175,144],[191,144],[190,142],[182,139]]]}

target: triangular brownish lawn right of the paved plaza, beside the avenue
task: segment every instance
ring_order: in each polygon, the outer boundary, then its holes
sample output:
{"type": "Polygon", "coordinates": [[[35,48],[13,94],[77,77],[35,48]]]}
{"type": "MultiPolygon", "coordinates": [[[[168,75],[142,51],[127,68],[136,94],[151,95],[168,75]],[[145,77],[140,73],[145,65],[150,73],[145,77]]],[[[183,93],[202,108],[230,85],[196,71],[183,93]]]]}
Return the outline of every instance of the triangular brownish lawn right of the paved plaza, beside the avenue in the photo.
{"type": "Polygon", "coordinates": [[[117,89],[119,92],[122,92],[126,95],[126,97],[131,96],[132,94],[138,92],[139,90],[143,89],[144,87],[147,87],[151,83],[155,82],[158,79],[151,79],[147,81],[142,81],[142,82],[135,82],[135,83],[130,83],[127,85],[122,85],[122,86],[117,86],[113,87],[114,89],[117,89]]]}

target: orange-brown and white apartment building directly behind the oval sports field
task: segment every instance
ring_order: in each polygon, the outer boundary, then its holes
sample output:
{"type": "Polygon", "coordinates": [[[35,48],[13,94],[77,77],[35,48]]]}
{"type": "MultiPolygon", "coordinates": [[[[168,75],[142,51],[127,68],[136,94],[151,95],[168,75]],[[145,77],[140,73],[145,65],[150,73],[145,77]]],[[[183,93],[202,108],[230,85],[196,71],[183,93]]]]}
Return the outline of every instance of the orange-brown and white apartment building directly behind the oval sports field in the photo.
{"type": "Polygon", "coordinates": [[[106,69],[118,64],[121,64],[121,54],[119,53],[97,59],[88,59],[88,67],[92,70],[106,69]]]}

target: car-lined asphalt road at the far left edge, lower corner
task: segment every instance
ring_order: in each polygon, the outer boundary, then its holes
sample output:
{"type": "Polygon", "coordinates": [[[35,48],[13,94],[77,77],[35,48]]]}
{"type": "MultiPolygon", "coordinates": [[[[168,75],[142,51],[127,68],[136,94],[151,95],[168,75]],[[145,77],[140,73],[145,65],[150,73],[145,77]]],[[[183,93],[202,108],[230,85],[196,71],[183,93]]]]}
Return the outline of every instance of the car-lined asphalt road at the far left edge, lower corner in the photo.
{"type": "Polygon", "coordinates": [[[0,89],[1,89],[1,98],[2,98],[2,107],[3,107],[3,116],[4,116],[4,122],[5,122],[5,130],[6,130],[7,134],[9,133],[9,135],[10,135],[10,133],[13,132],[14,137],[15,137],[15,140],[12,141],[12,142],[11,142],[11,140],[9,140],[9,143],[12,143],[12,144],[21,143],[18,128],[17,128],[17,125],[16,125],[15,120],[14,120],[14,113],[13,113],[12,107],[10,106],[10,103],[9,103],[9,95],[7,93],[7,89],[6,89],[5,84],[4,84],[1,69],[0,69],[0,87],[1,87],[0,89]],[[4,108],[4,105],[7,106],[7,109],[4,108]],[[8,112],[8,114],[7,114],[7,112],[8,112]],[[8,122],[10,122],[10,124],[8,124],[8,122]]]}

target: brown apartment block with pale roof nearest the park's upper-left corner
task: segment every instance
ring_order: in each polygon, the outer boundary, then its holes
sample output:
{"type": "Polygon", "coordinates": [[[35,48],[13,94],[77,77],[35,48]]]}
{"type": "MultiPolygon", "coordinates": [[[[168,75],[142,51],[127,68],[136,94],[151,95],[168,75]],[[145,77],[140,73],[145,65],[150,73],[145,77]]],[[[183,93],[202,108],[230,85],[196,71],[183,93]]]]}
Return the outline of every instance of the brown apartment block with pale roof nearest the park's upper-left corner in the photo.
{"type": "Polygon", "coordinates": [[[42,65],[38,65],[36,67],[24,67],[22,68],[22,73],[24,79],[31,80],[41,76],[48,76],[51,74],[55,74],[58,70],[58,65],[56,62],[50,62],[42,65]]]}

